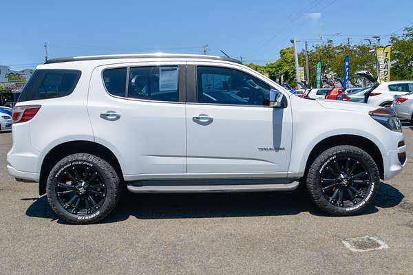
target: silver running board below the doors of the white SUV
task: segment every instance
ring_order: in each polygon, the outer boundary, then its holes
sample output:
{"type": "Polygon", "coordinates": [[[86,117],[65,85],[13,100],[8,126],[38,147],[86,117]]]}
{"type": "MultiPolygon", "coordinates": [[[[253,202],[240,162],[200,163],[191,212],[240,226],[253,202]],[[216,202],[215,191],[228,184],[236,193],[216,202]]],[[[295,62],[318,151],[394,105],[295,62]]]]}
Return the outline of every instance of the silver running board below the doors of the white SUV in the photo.
{"type": "Polygon", "coordinates": [[[160,193],[204,193],[204,192],[265,192],[265,191],[291,191],[298,187],[299,182],[289,184],[244,184],[244,185],[199,185],[199,186],[134,186],[128,185],[127,189],[134,193],[160,192],[160,193]]]}

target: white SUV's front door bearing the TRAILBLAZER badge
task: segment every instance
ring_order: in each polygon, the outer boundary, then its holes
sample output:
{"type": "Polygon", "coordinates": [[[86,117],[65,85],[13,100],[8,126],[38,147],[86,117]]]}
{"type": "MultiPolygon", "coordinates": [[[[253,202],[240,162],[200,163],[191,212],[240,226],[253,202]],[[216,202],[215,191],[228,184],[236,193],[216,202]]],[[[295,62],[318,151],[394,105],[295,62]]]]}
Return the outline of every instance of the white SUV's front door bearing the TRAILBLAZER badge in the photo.
{"type": "MultiPolygon", "coordinates": [[[[188,63],[188,173],[285,177],[292,117],[269,107],[271,85],[236,65],[188,63]]],[[[231,177],[231,175],[230,175],[231,177]]]]}

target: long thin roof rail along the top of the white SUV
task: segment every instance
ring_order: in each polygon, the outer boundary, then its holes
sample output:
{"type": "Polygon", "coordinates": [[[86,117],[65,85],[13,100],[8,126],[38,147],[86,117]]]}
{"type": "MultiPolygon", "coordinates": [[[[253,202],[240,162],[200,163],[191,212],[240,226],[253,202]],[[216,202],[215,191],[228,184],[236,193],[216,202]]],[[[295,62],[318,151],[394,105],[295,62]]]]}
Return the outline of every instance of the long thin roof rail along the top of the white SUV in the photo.
{"type": "Polygon", "coordinates": [[[63,63],[72,61],[94,61],[94,60],[104,60],[104,59],[121,59],[121,58],[196,58],[196,59],[207,59],[215,61],[229,61],[233,63],[242,64],[235,58],[229,58],[224,56],[207,56],[200,54],[114,54],[114,55],[103,55],[103,56],[68,56],[60,58],[52,58],[45,62],[45,64],[51,63],[63,63]]]}

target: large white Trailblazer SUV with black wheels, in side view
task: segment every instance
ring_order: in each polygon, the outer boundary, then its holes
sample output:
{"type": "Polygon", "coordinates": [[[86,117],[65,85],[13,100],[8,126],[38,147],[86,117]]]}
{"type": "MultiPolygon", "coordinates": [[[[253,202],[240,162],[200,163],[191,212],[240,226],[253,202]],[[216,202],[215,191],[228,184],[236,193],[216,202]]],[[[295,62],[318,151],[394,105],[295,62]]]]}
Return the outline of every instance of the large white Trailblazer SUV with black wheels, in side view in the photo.
{"type": "Polygon", "coordinates": [[[391,109],[299,98],[219,56],[53,59],[12,117],[10,175],[38,181],[70,223],[106,217],[123,186],[245,192],[301,181],[321,210],[357,214],[406,162],[391,109]]]}

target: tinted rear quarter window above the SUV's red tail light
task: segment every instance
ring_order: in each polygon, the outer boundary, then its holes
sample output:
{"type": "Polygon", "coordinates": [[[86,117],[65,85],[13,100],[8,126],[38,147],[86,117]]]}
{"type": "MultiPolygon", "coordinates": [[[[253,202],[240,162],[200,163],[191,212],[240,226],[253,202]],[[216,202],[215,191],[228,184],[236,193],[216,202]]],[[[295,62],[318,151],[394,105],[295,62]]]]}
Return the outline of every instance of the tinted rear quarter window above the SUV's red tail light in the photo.
{"type": "Polygon", "coordinates": [[[25,85],[18,102],[69,96],[80,77],[81,71],[74,69],[38,69],[25,85]]]}

